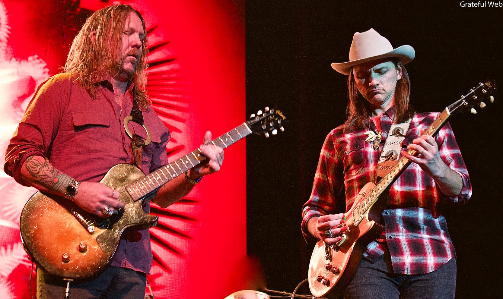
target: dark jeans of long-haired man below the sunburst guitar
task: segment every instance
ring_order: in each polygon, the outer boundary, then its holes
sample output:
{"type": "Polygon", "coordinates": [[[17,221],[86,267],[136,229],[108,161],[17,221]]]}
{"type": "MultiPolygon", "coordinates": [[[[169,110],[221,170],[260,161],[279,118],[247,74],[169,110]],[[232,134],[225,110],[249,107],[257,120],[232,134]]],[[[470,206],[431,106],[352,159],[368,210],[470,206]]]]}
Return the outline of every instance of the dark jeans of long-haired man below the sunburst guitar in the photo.
{"type": "MultiPolygon", "coordinates": [[[[147,276],[131,269],[108,267],[89,281],[70,282],[70,299],[143,299],[147,276]]],[[[37,298],[64,299],[66,281],[37,269],[37,298]]]]}

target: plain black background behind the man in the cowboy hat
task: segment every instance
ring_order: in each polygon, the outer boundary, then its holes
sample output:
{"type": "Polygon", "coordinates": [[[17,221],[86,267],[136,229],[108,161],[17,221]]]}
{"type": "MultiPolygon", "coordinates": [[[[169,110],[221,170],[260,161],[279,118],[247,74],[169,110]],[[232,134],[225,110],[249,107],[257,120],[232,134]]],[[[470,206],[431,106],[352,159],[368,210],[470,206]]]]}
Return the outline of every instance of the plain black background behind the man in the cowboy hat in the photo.
{"type": "MultiPolygon", "coordinates": [[[[374,28],[394,48],[411,45],[412,105],[440,112],[487,77],[503,84],[502,17],[503,7],[459,1],[246,2],[247,112],[277,105],[289,118],[284,133],[247,140],[247,250],[268,288],[291,292],[307,278],[313,244],[302,238],[301,209],[323,140],[345,119],[347,76],[330,63],[349,60],[353,34],[374,28]]],[[[444,214],[458,254],[456,298],[500,297],[503,103],[496,94],[487,105],[450,119],[473,185],[471,200],[444,214]]]]}

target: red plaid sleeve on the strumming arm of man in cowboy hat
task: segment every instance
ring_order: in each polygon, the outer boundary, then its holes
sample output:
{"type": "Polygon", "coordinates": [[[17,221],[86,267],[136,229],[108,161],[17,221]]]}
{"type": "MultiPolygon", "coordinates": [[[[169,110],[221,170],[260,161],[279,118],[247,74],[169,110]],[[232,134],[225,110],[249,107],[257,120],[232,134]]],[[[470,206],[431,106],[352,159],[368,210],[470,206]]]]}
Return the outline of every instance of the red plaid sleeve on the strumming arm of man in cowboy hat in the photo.
{"type": "Polygon", "coordinates": [[[314,240],[307,230],[307,222],[312,217],[332,214],[336,200],[343,186],[341,163],[334,148],[332,133],[328,134],[321,148],[318,167],[314,175],[311,196],[302,210],[301,229],[306,241],[314,240]]]}

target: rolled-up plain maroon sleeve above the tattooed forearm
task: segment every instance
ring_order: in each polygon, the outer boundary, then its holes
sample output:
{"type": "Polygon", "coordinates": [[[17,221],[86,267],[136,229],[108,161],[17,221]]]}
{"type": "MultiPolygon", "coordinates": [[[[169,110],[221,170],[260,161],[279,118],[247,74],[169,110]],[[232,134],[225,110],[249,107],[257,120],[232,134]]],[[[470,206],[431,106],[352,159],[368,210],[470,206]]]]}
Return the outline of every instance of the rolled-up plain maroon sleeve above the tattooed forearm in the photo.
{"type": "Polygon", "coordinates": [[[21,178],[21,167],[30,156],[48,157],[62,116],[62,98],[67,86],[49,78],[41,83],[33,96],[14,136],[7,146],[4,171],[27,186],[21,178]]]}

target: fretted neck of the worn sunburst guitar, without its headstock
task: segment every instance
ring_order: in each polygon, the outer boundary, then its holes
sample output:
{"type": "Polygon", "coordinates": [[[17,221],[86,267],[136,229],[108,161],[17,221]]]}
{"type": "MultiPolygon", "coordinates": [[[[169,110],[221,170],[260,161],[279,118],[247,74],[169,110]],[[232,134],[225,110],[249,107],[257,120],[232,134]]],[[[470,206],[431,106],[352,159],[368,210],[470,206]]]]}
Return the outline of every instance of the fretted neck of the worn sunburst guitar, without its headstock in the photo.
{"type": "MultiPolygon", "coordinates": [[[[250,128],[248,128],[246,123],[242,123],[240,126],[237,126],[207,144],[227,148],[249,134],[251,134],[250,128]]],[[[180,157],[178,160],[164,165],[141,179],[131,183],[126,186],[126,190],[129,195],[133,197],[133,200],[137,201],[145,195],[159,189],[162,185],[183,174],[185,171],[199,165],[205,159],[206,157],[201,155],[201,150],[198,148],[180,157]]]]}

